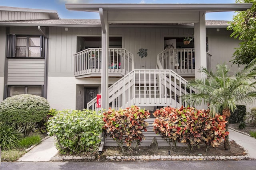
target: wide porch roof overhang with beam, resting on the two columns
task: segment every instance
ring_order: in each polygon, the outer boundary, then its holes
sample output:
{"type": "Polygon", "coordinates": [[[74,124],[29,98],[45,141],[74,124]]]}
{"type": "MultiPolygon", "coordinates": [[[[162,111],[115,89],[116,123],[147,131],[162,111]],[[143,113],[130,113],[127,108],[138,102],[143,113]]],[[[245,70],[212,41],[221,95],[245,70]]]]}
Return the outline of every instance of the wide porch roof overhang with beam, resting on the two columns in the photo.
{"type": "Polygon", "coordinates": [[[198,23],[200,13],[243,11],[252,4],[75,4],[68,10],[105,11],[109,23],[198,23]]]}

